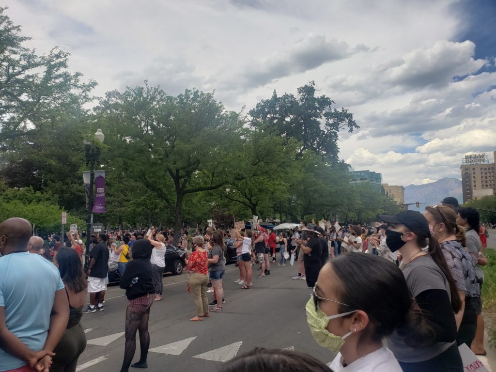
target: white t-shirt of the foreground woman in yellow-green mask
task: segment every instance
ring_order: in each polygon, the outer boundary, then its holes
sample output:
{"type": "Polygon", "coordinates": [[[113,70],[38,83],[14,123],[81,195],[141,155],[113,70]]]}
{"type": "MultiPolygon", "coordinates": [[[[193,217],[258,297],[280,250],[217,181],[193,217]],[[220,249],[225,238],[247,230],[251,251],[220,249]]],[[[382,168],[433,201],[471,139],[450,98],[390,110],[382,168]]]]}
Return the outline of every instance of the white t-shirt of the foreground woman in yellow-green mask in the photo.
{"type": "Polygon", "coordinates": [[[334,372],[402,372],[393,353],[385,346],[346,367],[341,365],[341,353],[338,353],[329,367],[334,372]]]}

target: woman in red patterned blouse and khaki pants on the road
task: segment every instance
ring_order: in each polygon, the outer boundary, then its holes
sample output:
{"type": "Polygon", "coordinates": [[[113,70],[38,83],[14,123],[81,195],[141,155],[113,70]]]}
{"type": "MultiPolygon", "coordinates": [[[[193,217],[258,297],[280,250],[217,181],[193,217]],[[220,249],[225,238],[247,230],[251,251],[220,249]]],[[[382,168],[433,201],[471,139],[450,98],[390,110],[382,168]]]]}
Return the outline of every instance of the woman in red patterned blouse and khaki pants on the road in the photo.
{"type": "Polygon", "coordinates": [[[208,284],[208,255],[203,248],[205,240],[201,236],[194,237],[191,241],[193,252],[186,260],[188,272],[188,287],[193,294],[196,316],[189,320],[203,320],[208,314],[207,284],[208,284]]]}

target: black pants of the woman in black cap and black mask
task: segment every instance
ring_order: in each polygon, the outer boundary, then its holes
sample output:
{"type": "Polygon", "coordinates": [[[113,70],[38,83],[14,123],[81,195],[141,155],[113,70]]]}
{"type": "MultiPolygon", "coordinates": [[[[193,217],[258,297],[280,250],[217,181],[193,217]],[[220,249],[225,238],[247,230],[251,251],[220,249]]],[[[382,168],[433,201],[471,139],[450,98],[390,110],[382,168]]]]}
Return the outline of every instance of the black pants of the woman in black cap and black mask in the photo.
{"type": "Polygon", "coordinates": [[[447,350],[424,362],[405,363],[400,362],[403,372],[463,372],[463,363],[456,344],[451,345],[447,350]]]}

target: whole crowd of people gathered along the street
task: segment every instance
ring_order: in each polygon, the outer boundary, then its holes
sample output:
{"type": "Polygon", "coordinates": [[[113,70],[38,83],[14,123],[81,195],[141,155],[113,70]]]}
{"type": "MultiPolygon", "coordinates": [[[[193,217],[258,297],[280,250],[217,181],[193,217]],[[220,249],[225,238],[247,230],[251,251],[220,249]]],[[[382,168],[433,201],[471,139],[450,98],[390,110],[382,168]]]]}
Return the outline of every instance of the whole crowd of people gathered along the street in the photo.
{"type": "MultiPolygon", "coordinates": [[[[223,310],[226,245],[232,244],[242,290],[253,286],[253,272],[259,270],[257,277],[264,278],[271,275],[271,264],[296,261],[298,273],[292,278],[305,280],[312,289],[305,306],[311,334],[320,346],[337,353],[327,370],[463,371],[459,345],[477,355],[486,353],[480,267],[487,259],[478,212],[452,199],[427,207],[424,214],[406,210],[380,215],[371,227],[302,221],[277,234],[260,225],[229,234],[208,227],[190,239],[184,231],[179,245],[188,253],[187,291],[195,311],[189,320],[202,321],[210,311],[223,310]]],[[[92,235],[83,258],[77,232],[69,232],[65,244],[58,236],[45,242],[32,236],[28,221],[3,221],[0,371],[74,372],[86,346],[81,317],[104,310],[112,262],[117,262],[128,300],[121,372],[146,368],[150,310],[163,300],[164,256],[173,240],[174,233],[154,228],[92,235]],[[90,304],[83,310],[88,293],[90,304]],[[136,333],[140,358],[131,365],[136,333]]],[[[302,354],[256,349],[222,371],[261,361],[273,365],[264,371],[282,371],[286,364],[300,366],[295,371],[323,368],[302,354]]]]}

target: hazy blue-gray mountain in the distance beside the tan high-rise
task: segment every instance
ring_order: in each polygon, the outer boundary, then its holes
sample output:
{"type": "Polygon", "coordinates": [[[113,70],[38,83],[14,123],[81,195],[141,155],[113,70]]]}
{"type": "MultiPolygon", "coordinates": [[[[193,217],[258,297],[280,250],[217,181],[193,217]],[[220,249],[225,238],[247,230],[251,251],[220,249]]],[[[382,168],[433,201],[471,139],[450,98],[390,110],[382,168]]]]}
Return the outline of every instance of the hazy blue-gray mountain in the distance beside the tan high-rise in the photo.
{"type": "Polygon", "coordinates": [[[409,205],[408,209],[423,212],[427,205],[439,204],[446,196],[453,196],[459,204],[463,203],[462,182],[456,178],[441,178],[425,185],[409,185],[405,187],[405,203],[420,203],[420,208],[409,205]]]}

